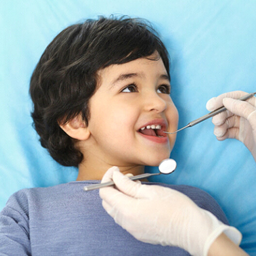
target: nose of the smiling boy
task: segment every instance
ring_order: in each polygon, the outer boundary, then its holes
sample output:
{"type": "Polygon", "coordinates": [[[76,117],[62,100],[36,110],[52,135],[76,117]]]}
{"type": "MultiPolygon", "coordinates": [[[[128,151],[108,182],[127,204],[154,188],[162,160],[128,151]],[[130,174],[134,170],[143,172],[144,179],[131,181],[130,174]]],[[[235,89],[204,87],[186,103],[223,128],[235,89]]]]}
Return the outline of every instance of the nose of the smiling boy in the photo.
{"type": "Polygon", "coordinates": [[[144,109],[158,113],[165,111],[167,103],[160,95],[157,92],[147,92],[144,95],[144,109]]]}

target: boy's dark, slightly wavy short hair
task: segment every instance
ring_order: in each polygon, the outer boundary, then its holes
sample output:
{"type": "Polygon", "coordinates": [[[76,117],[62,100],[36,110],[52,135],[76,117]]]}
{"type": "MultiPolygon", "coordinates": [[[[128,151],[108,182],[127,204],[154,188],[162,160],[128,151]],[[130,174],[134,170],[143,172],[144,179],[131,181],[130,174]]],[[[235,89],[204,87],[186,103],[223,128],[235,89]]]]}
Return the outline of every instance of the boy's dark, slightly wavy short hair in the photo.
{"type": "Polygon", "coordinates": [[[32,118],[43,147],[64,166],[78,166],[83,155],[76,140],[59,126],[81,114],[88,125],[88,101],[97,88],[97,71],[128,63],[154,52],[169,75],[168,52],[158,33],[144,19],[127,16],[87,19],[60,32],[36,65],[30,95],[32,118]]]}

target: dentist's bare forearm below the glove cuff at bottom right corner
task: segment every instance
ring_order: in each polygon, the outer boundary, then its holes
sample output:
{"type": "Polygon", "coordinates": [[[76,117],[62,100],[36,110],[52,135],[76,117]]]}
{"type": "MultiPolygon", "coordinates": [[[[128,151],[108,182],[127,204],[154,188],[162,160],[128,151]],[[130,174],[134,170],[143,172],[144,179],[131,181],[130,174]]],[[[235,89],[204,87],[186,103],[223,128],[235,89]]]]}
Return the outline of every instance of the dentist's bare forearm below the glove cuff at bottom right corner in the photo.
{"type": "Polygon", "coordinates": [[[207,256],[249,256],[222,233],[210,246],[207,256]]]}

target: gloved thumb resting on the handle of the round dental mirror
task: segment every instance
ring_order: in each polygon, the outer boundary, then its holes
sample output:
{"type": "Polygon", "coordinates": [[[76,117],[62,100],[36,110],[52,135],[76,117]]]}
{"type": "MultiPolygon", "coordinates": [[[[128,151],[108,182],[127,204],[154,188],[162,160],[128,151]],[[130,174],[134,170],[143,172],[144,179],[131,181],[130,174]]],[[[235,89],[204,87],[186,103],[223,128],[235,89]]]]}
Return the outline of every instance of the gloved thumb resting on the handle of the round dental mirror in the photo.
{"type": "Polygon", "coordinates": [[[141,183],[132,181],[128,178],[128,176],[124,176],[120,172],[114,172],[112,175],[112,180],[119,191],[131,197],[140,198],[146,196],[146,185],[142,185],[141,183]]]}

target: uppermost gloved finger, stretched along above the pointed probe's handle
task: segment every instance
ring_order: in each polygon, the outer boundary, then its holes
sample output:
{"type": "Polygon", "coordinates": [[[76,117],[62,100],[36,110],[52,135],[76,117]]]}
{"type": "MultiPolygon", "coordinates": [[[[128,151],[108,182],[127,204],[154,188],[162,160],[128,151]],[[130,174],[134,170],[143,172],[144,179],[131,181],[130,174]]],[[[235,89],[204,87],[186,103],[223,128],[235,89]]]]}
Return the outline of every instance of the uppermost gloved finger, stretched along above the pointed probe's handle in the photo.
{"type": "Polygon", "coordinates": [[[238,99],[246,94],[247,93],[242,92],[242,91],[234,91],[234,92],[221,94],[218,97],[213,97],[213,98],[209,99],[208,102],[206,103],[206,108],[208,111],[214,111],[223,106],[224,98],[229,97],[229,98],[238,99]]]}

